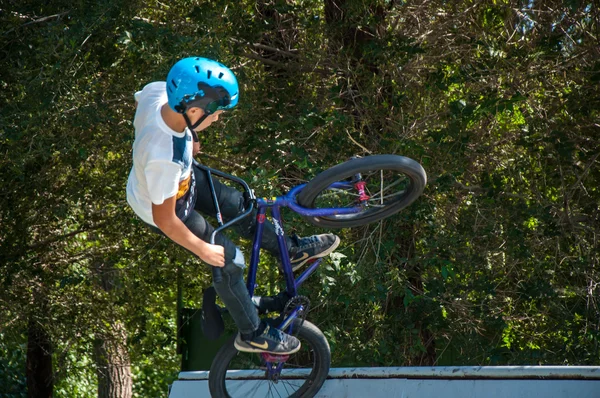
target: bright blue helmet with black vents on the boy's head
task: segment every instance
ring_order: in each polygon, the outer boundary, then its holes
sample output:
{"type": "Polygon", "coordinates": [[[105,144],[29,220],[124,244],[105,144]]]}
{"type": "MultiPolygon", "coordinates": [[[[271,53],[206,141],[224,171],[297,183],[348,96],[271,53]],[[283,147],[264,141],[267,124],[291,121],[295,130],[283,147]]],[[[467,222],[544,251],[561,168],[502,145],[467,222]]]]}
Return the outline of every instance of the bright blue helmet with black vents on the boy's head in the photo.
{"type": "Polygon", "coordinates": [[[209,115],[237,105],[239,87],[233,72],[208,58],[190,57],[178,61],[167,75],[167,97],[175,112],[198,107],[209,115]]]}

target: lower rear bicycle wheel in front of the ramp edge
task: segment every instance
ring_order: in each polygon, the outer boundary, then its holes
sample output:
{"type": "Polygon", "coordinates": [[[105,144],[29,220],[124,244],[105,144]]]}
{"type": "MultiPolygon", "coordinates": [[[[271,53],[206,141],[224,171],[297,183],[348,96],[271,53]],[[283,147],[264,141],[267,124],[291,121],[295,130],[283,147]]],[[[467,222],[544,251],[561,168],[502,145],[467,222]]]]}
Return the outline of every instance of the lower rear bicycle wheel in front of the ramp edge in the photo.
{"type": "Polygon", "coordinates": [[[231,338],[221,347],[210,368],[208,385],[211,396],[313,397],[329,373],[329,343],[323,333],[308,321],[295,320],[292,330],[302,347],[285,360],[276,377],[269,376],[262,354],[238,351],[233,345],[235,336],[231,338]]]}

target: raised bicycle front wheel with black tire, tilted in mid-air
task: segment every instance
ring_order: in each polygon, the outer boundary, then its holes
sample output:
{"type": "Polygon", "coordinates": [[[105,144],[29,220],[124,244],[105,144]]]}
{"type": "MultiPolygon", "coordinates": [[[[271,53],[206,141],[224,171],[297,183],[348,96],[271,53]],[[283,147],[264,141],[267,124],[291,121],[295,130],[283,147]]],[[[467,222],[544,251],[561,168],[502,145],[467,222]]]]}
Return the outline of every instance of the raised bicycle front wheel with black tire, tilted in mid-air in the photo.
{"type": "Polygon", "coordinates": [[[321,227],[356,227],[407,207],[421,195],[426,183],[427,174],[416,161],[398,155],[373,155],[348,160],[318,174],[298,194],[297,202],[314,209],[362,205],[363,210],[354,214],[306,217],[321,227]],[[364,182],[366,196],[359,195],[359,181],[364,182]]]}

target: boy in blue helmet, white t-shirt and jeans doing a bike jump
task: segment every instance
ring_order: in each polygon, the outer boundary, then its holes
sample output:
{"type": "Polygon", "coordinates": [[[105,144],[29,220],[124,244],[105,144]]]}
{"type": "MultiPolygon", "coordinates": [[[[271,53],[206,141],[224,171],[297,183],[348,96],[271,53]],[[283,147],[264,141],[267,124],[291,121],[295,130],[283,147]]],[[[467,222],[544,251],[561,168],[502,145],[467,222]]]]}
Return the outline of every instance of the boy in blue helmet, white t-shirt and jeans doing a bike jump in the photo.
{"type": "MultiPolygon", "coordinates": [[[[258,317],[244,283],[244,257],[227,237],[207,243],[214,228],[197,211],[215,215],[207,177],[193,167],[199,150],[197,132],[219,120],[238,103],[235,75],[226,66],[201,57],[184,58],[169,71],[166,82],[154,82],[135,93],[133,167],[127,182],[127,201],[153,230],[197,255],[213,267],[221,267],[223,280],[215,290],[229,310],[239,333],[240,351],[292,354],[300,349],[297,338],[270,328],[258,317]],[[197,210],[197,211],[195,211],[197,210]]],[[[241,192],[215,181],[225,221],[244,209],[241,192]]],[[[244,236],[252,236],[255,218],[240,222],[244,236]]],[[[265,224],[262,247],[278,254],[275,230],[265,224]]],[[[286,237],[294,269],[324,257],[338,246],[333,234],[308,238],[286,237]]]]}

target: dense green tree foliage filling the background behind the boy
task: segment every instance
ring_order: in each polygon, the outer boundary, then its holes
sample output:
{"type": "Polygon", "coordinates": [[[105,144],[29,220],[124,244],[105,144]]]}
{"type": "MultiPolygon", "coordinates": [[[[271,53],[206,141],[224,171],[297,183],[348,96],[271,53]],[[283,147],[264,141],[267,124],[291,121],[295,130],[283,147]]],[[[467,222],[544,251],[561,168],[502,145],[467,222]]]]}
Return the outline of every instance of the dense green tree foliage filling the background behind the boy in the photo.
{"type": "Polygon", "coordinates": [[[136,396],[176,377],[176,270],[186,306],[209,272],[134,216],[125,184],[133,93],[190,54],[241,85],[199,158],[261,196],[353,155],[428,172],[410,209],[340,231],[304,288],[334,366],[597,364],[598,8],[532,4],[15,2],[0,16],[0,384],[25,388],[29,321],[55,343],[57,396],[96,394],[94,343],[120,322],[136,396]]]}

